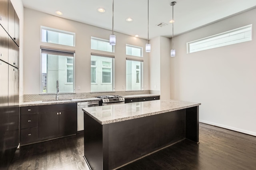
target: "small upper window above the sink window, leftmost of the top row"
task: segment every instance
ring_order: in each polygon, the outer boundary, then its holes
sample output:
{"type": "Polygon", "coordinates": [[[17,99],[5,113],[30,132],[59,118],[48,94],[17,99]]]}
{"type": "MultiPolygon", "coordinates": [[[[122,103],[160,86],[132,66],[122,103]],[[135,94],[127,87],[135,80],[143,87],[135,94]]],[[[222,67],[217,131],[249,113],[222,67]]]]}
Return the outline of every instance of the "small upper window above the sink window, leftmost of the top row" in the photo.
{"type": "Polygon", "coordinates": [[[75,33],[41,26],[41,41],[75,46],[75,33]]]}

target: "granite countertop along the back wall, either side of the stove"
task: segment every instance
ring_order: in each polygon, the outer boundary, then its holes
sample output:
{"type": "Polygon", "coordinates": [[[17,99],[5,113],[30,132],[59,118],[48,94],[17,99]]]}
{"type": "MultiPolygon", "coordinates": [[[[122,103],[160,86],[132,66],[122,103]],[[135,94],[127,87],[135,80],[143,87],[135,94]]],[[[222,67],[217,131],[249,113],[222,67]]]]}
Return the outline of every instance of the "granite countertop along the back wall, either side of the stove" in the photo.
{"type": "MultiPolygon", "coordinates": [[[[143,94],[143,95],[129,95],[129,96],[123,96],[124,98],[134,98],[134,97],[154,97],[154,96],[160,96],[155,94],[143,94]]],[[[63,103],[77,103],[77,102],[86,102],[86,101],[101,101],[101,99],[92,97],[92,98],[86,98],[86,99],[59,99],[58,101],[28,101],[28,102],[22,102],[19,104],[19,107],[25,107],[25,106],[39,106],[39,105],[54,105],[54,104],[63,104],[63,103]]]]}

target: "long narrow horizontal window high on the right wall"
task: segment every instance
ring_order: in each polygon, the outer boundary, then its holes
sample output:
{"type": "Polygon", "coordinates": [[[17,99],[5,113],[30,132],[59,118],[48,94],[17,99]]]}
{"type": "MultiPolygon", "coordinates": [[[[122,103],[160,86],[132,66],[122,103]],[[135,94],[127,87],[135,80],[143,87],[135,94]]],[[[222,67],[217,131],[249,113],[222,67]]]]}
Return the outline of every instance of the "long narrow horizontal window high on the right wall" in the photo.
{"type": "Polygon", "coordinates": [[[252,24],[187,43],[187,53],[252,40],[252,24]]]}

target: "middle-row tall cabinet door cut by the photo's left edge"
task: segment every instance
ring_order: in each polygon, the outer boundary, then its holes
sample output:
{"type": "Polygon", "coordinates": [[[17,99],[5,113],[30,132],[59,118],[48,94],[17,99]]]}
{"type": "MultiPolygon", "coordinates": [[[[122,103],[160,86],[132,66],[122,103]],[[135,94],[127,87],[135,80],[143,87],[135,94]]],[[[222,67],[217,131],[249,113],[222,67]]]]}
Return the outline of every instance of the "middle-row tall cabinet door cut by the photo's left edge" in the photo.
{"type": "Polygon", "coordinates": [[[0,26],[0,60],[5,61],[8,63],[8,34],[0,26]]]}

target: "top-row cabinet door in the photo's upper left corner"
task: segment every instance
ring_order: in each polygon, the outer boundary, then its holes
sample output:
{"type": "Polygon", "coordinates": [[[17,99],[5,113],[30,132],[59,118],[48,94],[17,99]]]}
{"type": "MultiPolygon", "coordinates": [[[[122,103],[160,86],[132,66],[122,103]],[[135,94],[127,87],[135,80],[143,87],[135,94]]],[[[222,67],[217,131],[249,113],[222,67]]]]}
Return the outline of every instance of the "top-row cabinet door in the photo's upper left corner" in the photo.
{"type": "Polygon", "coordinates": [[[0,0],[0,24],[8,31],[8,0],[0,0]]]}

